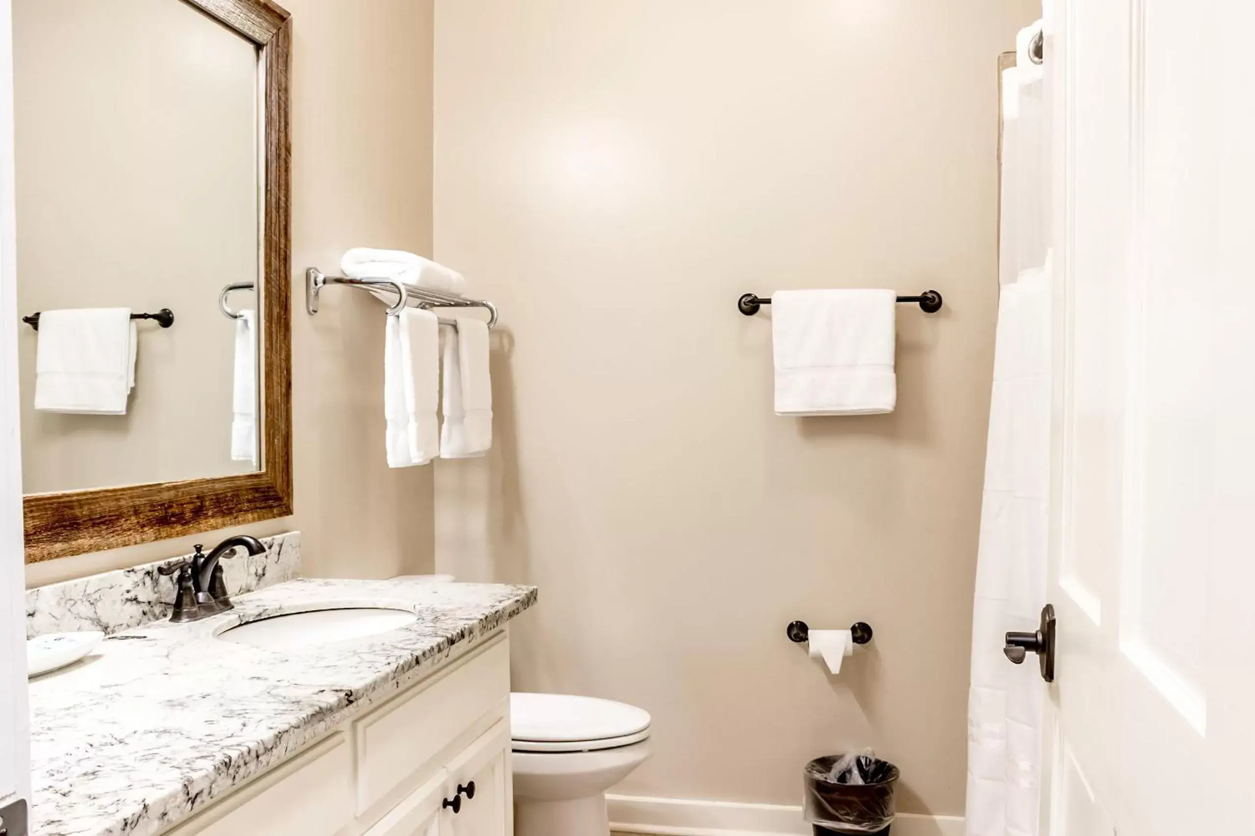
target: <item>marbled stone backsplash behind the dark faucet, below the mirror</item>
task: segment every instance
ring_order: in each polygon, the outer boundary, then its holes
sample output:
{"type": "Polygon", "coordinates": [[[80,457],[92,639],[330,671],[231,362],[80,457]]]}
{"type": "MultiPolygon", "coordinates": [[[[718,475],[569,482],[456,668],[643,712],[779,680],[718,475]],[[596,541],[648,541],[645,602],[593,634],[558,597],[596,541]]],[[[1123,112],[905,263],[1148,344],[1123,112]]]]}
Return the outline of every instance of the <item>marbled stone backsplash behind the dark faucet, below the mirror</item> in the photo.
{"type": "MultiPolygon", "coordinates": [[[[227,593],[238,595],[300,577],[301,533],[261,538],[259,555],[237,550],[222,562],[227,593]]],[[[26,638],[45,633],[103,630],[117,633],[168,618],[174,578],[157,570],[191,555],[178,555],[131,569],[105,572],[26,590],[26,638]]]]}

